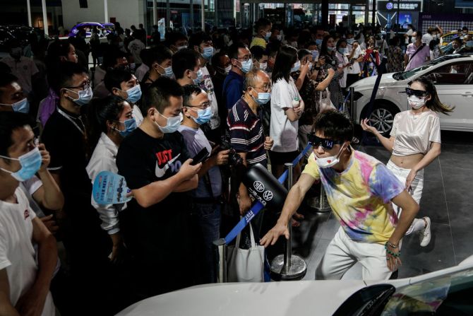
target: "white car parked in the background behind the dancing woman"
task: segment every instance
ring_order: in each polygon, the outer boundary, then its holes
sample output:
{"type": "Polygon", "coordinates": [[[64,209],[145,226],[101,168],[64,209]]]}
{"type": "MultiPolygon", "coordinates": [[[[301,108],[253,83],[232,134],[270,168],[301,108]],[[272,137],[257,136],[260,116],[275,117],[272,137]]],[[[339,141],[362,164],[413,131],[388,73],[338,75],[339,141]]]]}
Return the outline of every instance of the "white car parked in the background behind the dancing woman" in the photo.
{"type": "Polygon", "coordinates": [[[409,71],[383,74],[372,111],[369,100],[377,77],[353,83],[354,121],[368,117],[371,125],[388,135],[396,113],[408,110],[405,88],[420,76],[431,78],[442,103],[455,106],[450,115],[440,114],[441,129],[473,131],[473,54],[445,55],[409,71]]]}

